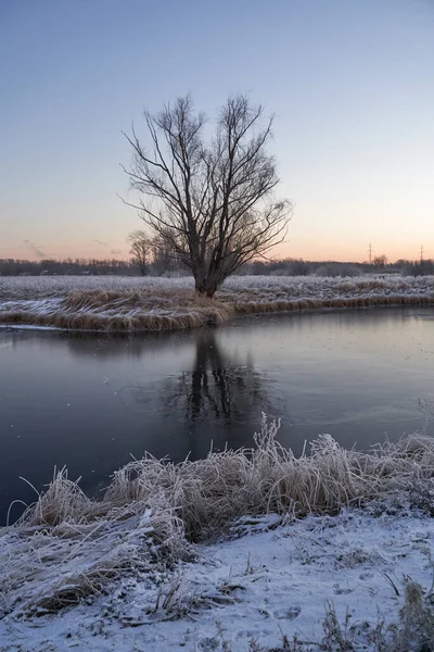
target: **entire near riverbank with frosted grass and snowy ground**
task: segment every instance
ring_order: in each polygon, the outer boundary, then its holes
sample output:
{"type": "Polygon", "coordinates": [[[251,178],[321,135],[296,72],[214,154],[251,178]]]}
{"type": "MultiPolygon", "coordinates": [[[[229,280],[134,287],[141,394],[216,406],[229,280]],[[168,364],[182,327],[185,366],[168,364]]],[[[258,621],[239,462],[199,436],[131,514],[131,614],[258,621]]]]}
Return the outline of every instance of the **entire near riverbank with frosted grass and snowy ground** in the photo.
{"type": "Polygon", "coordinates": [[[432,645],[434,440],[361,453],[322,436],[295,457],[277,429],[133,461],[101,501],[59,473],[0,531],[0,650],[432,645]]]}

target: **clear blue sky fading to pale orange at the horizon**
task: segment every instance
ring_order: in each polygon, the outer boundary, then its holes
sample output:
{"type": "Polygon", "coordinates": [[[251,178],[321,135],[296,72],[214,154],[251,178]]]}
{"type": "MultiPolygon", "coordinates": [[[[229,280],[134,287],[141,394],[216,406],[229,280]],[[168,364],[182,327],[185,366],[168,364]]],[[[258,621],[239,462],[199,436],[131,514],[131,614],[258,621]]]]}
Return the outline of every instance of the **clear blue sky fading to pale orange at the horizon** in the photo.
{"type": "Polygon", "coordinates": [[[0,259],[128,258],[122,131],[188,92],[276,114],[272,256],[434,258],[434,0],[0,0],[0,259]]]}

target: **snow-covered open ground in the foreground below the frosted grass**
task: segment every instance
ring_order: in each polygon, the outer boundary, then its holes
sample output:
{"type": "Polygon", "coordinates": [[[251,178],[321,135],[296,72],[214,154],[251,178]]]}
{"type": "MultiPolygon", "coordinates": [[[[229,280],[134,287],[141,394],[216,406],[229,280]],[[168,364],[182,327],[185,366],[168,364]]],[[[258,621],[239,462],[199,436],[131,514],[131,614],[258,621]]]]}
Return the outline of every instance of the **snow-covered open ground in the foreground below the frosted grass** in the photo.
{"type": "Polygon", "coordinates": [[[337,516],[239,521],[195,560],[113,582],[55,615],[0,622],[0,651],[242,652],[319,650],[332,601],[352,650],[375,650],[374,629],[398,620],[409,579],[430,589],[434,519],[397,500],[337,516]]]}

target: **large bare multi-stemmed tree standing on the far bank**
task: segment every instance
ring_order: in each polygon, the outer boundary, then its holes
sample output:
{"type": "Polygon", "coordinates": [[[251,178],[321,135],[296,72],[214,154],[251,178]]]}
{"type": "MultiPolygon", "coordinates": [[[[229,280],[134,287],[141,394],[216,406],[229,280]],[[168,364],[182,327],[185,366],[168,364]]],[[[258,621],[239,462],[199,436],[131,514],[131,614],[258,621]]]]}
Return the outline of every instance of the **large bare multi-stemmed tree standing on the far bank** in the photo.
{"type": "Polygon", "coordinates": [[[199,294],[213,297],[243,263],[285,237],[292,205],[272,197],[272,117],[263,126],[263,114],[244,96],[229,98],[207,140],[204,114],[184,97],[156,115],[144,112],[151,147],[133,128],[126,135],[133,150],[126,172],[141,217],[191,269],[199,294]]]}

